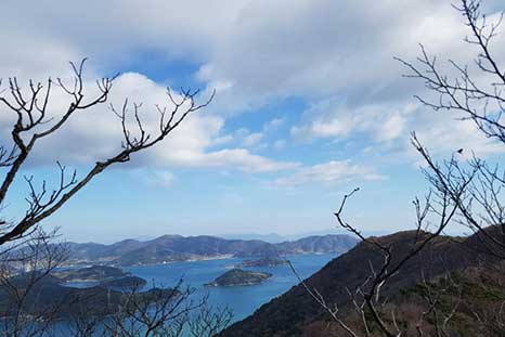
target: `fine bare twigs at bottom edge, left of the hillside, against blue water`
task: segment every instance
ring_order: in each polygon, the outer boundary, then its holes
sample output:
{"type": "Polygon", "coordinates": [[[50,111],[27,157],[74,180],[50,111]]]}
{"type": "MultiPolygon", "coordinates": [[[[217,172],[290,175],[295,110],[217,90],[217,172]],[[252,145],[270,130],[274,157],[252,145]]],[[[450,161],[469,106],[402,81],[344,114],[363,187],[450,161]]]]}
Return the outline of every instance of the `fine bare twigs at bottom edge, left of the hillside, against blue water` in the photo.
{"type": "Polygon", "coordinates": [[[82,308],[67,322],[68,332],[76,337],[211,337],[230,324],[230,310],[213,308],[208,297],[194,299],[193,295],[182,280],[172,288],[134,288],[122,293],[119,306],[114,303],[107,312],[90,314],[82,308]]]}

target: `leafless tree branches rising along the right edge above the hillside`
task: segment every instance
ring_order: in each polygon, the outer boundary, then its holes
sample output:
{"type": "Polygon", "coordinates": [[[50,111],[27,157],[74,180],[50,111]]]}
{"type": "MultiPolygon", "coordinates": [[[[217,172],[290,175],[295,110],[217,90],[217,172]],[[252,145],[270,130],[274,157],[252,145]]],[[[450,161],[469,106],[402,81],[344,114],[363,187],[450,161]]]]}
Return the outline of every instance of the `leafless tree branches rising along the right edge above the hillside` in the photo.
{"type": "MultiPolygon", "coordinates": [[[[462,65],[450,60],[448,67],[440,67],[437,57],[430,56],[420,47],[417,63],[399,60],[409,70],[407,78],[420,79],[430,92],[428,98],[416,96],[425,106],[442,113],[457,113],[454,117],[469,120],[477,127],[477,132],[505,145],[505,70],[496,56],[492,53],[492,42],[497,36],[503,14],[490,21],[481,11],[479,0],[461,0],[454,5],[465,20],[469,35],[466,43],[477,47],[479,52],[472,66],[462,65]],[[448,70],[449,69],[449,70],[448,70]],[[456,74],[456,76],[451,76],[456,74]],[[433,98],[435,94],[435,98],[433,98]]],[[[457,122],[457,121],[455,121],[457,122]]],[[[505,294],[496,295],[494,302],[502,303],[493,307],[493,314],[482,312],[482,308],[472,307],[475,298],[468,290],[468,280],[477,280],[477,286],[482,286],[482,277],[500,283],[503,276],[503,259],[505,258],[505,170],[500,164],[490,164],[476,154],[464,160],[462,153],[468,150],[455,148],[449,160],[438,163],[432,158],[428,148],[415,133],[412,144],[419,153],[426,168],[424,174],[430,185],[430,192],[424,202],[414,200],[416,210],[415,241],[406,252],[399,254],[394,246],[376,237],[365,237],[355,226],[344,217],[348,198],[358,189],[346,195],[335,217],[339,226],[357,235],[364,245],[372,247],[381,261],[370,263],[368,277],[357,288],[348,289],[348,308],[337,308],[321,295],[318,289],[310,288],[301,282],[308,294],[326,311],[339,326],[339,334],[346,336],[453,336],[452,320],[456,314],[465,313],[475,320],[475,326],[482,336],[488,336],[505,326],[503,303],[505,294]],[[459,265],[465,273],[465,281],[456,277],[459,274],[439,272],[439,276],[427,280],[424,271],[419,271],[418,286],[422,288],[418,308],[414,314],[415,326],[412,328],[405,322],[400,324],[400,316],[405,315],[398,302],[391,301],[383,289],[396,277],[402,277],[405,267],[414,259],[418,259],[453,224],[463,224],[475,233],[471,247],[472,268],[459,265]],[[472,276],[479,274],[480,276],[472,276]],[[485,274],[484,274],[485,273],[485,274]],[[493,274],[494,273],[494,274],[493,274]],[[491,276],[490,276],[491,275],[491,276]],[[495,278],[493,278],[493,276],[495,278]],[[480,278],[479,278],[480,277],[480,278]],[[463,286],[466,284],[466,291],[463,286]],[[470,293],[470,294],[468,294],[470,293]],[[451,295],[449,299],[449,295],[451,295]],[[443,299],[443,306],[442,306],[443,299]],[[344,310],[342,310],[344,309],[344,310]],[[480,311],[479,311],[480,310],[480,311]],[[352,315],[360,321],[359,327],[350,325],[352,315]]],[[[300,280],[301,281],[301,280],[300,280]]],[[[505,285],[498,284],[498,288],[505,285]]],[[[484,310],[485,311],[485,310],[484,310]]],[[[354,322],[355,323],[355,322],[354,322]]]]}

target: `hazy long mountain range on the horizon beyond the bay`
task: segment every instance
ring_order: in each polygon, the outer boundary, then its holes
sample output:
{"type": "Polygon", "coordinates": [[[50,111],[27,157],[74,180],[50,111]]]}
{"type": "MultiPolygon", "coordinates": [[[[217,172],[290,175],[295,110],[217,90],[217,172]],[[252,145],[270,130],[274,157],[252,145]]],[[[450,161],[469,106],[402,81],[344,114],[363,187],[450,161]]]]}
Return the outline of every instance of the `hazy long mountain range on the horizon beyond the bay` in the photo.
{"type": "Polygon", "coordinates": [[[215,259],[266,258],[294,254],[342,254],[355,245],[348,235],[310,236],[270,244],[259,239],[225,239],[215,236],[164,235],[141,242],[125,239],[113,245],[69,243],[69,263],[137,265],[215,259]]]}

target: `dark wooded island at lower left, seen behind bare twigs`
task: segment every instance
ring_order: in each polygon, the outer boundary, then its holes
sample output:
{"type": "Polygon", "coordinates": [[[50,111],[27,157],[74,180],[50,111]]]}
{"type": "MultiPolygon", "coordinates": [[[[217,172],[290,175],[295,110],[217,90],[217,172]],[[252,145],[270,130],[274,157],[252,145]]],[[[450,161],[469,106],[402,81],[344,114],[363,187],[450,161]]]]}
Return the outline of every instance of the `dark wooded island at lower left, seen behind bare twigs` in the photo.
{"type": "Polygon", "coordinates": [[[43,315],[46,312],[53,313],[54,308],[57,308],[57,319],[106,316],[120,312],[128,303],[144,306],[176,299],[181,295],[179,289],[170,287],[153,286],[146,289],[145,280],[100,265],[72,271],[60,270],[54,274],[23,272],[9,277],[9,282],[0,283],[0,320],[16,314],[16,290],[24,289],[27,285],[30,286],[30,293],[24,298],[26,314],[43,315]],[[88,283],[76,287],[68,285],[66,280],[88,283]]]}

